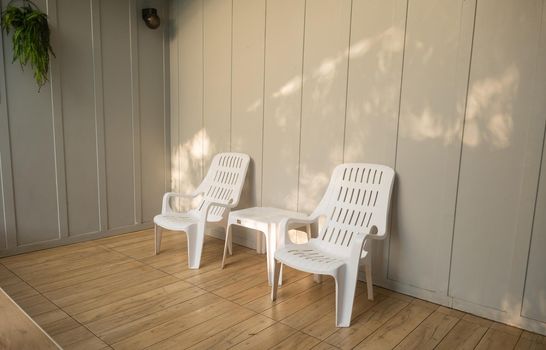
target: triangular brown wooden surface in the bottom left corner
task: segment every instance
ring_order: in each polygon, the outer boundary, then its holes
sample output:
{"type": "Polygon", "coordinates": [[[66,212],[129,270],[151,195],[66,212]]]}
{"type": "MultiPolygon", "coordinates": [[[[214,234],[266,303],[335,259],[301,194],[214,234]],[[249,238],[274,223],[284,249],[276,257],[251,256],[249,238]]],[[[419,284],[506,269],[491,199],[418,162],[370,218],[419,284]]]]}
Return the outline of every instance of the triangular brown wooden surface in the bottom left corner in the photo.
{"type": "Polygon", "coordinates": [[[60,349],[0,288],[0,347],[6,349],[60,349]]]}

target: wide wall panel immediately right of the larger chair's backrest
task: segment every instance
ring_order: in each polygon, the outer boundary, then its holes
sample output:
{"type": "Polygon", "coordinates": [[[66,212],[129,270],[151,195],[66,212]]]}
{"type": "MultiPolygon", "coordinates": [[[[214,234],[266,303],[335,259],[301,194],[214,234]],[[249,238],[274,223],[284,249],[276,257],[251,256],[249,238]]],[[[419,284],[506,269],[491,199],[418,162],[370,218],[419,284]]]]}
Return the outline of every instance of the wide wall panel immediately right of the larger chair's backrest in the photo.
{"type": "Polygon", "coordinates": [[[474,4],[408,5],[388,277],[429,291],[447,289],[474,4]]]}

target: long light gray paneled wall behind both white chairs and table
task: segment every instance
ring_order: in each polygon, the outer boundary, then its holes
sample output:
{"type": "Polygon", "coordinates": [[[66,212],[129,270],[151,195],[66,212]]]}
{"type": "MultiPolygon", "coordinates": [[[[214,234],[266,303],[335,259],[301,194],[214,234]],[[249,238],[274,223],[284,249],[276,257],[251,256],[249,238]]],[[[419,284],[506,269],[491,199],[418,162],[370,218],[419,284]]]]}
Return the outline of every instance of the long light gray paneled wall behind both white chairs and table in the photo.
{"type": "Polygon", "coordinates": [[[546,333],[544,0],[171,6],[175,189],[241,151],[243,206],[310,211],[336,164],[390,165],[378,283],[546,333]]]}

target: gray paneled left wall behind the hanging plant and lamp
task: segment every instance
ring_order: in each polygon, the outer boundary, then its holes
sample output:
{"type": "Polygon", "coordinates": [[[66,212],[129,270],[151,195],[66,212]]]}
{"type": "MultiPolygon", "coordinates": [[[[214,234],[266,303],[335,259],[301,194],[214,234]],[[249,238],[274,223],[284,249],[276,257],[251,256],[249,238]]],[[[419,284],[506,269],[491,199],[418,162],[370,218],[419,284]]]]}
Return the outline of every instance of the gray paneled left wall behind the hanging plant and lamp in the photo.
{"type": "Polygon", "coordinates": [[[35,2],[56,58],[38,93],[2,37],[0,256],[148,227],[170,186],[166,2],[35,2]]]}

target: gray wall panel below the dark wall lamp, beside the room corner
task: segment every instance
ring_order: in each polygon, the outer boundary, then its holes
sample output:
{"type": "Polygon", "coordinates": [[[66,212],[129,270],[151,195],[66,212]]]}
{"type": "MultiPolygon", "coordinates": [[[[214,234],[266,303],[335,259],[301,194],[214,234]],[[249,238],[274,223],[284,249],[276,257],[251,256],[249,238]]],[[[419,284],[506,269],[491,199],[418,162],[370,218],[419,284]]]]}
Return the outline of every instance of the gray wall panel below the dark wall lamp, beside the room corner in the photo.
{"type": "MultiPolygon", "coordinates": [[[[165,19],[164,1],[141,0],[137,9],[154,7],[160,18],[165,19]]],[[[142,186],[142,221],[151,222],[161,211],[161,199],[165,192],[165,105],[166,94],[163,55],[166,23],[156,30],[138,24],[138,64],[140,103],[140,156],[142,186]]]]}

